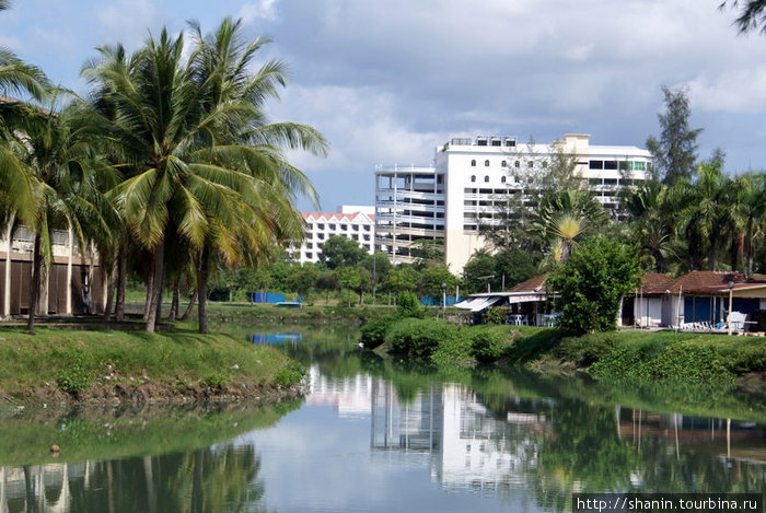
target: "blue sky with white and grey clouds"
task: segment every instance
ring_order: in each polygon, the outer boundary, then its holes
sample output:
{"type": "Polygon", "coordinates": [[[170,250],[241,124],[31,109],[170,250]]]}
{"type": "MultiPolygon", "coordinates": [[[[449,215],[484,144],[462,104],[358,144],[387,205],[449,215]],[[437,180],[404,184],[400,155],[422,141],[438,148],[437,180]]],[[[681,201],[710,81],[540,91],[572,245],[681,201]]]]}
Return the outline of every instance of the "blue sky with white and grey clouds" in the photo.
{"type": "Polygon", "coordinates": [[[686,88],[699,156],[727,171],[766,168],[766,36],[739,35],[720,0],[14,0],[0,46],[86,92],[95,48],[138,48],[163,26],[211,32],[241,18],[267,36],[262,60],[290,82],[267,105],[275,121],[311,125],[320,159],[290,153],[320,206],[374,203],[376,164],[428,165],[452,137],[645,147],[659,135],[662,85],[686,88]]]}

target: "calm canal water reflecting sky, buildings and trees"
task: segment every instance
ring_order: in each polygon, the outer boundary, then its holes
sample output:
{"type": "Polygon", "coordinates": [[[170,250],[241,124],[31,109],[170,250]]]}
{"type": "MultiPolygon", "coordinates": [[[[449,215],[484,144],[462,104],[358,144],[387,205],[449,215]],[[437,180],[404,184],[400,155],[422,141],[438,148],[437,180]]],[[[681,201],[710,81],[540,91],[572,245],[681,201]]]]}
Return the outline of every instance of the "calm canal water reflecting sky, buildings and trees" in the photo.
{"type": "Polygon", "coordinates": [[[381,359],[356,330],[236,334],[302,361],[306,397],[7,416],[0,512],[558,512],[576,492],[766,489],[763,395],[381,359]]]}

